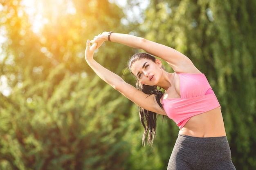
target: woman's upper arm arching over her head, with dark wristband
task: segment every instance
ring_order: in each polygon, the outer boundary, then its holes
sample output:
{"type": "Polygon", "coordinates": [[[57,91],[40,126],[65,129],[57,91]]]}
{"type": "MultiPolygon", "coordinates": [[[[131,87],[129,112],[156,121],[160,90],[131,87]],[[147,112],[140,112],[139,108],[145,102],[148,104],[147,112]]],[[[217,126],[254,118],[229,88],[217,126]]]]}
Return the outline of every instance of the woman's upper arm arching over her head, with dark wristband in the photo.
{"type": "Polygon", "coordinates": [[[99,43],[100,46],[104,41],[107,41],[108,38],[112,42],[118,42],[120,44],[124,44],[135,49],[143,49],[147,53],[162,58],[177,73],[201,73],[194,66],[191,60],[179,51],[163,44],[146,40],[144,38],[140,38],[134,35],[111,33],[109,36],[108,32],[103,32],[102,34],[95,36],[94,40],[92,40],[91,42],[99,43]]]}

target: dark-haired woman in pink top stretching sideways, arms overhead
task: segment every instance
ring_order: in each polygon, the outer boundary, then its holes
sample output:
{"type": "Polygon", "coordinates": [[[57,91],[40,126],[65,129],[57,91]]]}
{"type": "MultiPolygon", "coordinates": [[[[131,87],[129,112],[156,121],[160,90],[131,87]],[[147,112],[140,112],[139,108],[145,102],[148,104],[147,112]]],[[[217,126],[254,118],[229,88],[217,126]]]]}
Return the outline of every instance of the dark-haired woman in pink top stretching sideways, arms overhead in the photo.
{"type": "Polygon", "coordinates": [[[143,141],[147,131],[148,142],[153,141],[156,113],[176,122],[180,131],[168,170],[236,169],[231,161],[220,104],[204,74],[188,57],[168,46],[110,31],[87,41],[85,60],[101,79],[141,108],[140,119],[145,128],[143,141]],[[93,59],[95,49],[106,40],[147,52],[135,54],[129,62],[130,72],[138,79],[142,91],[93,59]],[[165,60],[175,72],[164,71],[161,61],[148,53],[165,60]],[[164,94],[157,86],[164,89],[164,94]]]}

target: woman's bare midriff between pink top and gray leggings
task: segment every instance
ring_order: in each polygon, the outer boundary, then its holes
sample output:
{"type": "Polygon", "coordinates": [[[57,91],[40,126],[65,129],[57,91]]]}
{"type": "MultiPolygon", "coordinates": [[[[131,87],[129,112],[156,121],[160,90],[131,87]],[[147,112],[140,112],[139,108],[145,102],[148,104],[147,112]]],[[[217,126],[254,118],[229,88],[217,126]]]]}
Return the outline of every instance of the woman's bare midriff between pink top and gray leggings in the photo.
{"type": "Polygon", "coordinates": [[[179,134],[193,137],[226,136],[220,107],[191,117],[179,134]]]}

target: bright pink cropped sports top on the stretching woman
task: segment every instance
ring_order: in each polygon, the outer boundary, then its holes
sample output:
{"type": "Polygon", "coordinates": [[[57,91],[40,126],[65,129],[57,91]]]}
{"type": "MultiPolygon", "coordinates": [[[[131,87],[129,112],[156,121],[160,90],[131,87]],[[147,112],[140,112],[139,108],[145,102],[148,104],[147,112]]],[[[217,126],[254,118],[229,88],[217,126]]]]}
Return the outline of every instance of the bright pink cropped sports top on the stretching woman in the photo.
{"type": "Polygon", "coordinates": [[[180,77],[180,98],[162,99],[163,108],[180,129],[192,116],[220,107],[204,74],[177,73],[180,77]]]}

